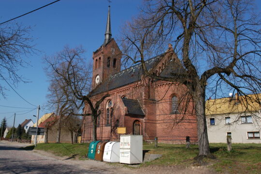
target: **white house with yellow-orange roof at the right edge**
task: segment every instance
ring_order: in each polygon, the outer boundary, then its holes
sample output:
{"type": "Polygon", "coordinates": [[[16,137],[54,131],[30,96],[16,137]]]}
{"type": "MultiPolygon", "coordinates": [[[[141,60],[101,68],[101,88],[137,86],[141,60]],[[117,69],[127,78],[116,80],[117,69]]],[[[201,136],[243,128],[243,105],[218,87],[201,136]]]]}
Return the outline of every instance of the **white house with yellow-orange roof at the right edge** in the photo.
{"type": "Polygon", "coordinates": [[[226,143],[261,143],[261,94],[206,101],[208,140],[226,143]]]}

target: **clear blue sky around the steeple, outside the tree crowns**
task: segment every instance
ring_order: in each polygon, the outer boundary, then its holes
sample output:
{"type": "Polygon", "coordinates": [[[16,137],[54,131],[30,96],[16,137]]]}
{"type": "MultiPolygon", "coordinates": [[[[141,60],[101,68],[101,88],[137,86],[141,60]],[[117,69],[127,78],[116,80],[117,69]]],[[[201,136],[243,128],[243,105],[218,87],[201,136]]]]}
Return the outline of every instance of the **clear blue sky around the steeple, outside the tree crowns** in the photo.
{"type": "MultiPolygon", "coordinates": [[[[20,16],[31,10],[46,5],[54,0],[2,0],[0,5],[0,22],[20,16]]],[[[113,37],[119,33],[126,20],[137,15],[141,0],[112,0],[111,27],[113,37]]],[[[53,55],[65,45],[75,47],[82,45],[86,50],[85,57],[92,61],[92,52],[104,41],[108,13],[107,0],[60,0],[50,6],[29,15],[20,17],[14,22],[31,26],[36,48],[41,50],[38,55],[32,55],[25,60],[30,63],[27,68],[20,68],[19,74],[30,83],[19,83],[15,90],[33,105],[43,106],[47,99],[48,79],[43,71],[43,56],[53,55]]],[[[4,81],[1,84],[8,87],[4,81]]],[[[0,105],[33,108],[14,93],[12,89],[6,92],[6,99],[0,96],[0,105]]],[[[0,120],[8,118],[8,126],[13,125],[16,111],[15,127],[25,119],[35,122],[37,110],[26,113],[29,109],[14,109],[0,107],[0,120]],[[18,112],[22,111],[22,112],[18,112]],[[13,112],[13,113],[6,113],[13,112]],[[26,113],[26,114],[23,114],[26,113]],[[21,114],[21,115],[18,115],[21,114]]],[[[40,110],[40,117],[48,111],[40,110]]]]}

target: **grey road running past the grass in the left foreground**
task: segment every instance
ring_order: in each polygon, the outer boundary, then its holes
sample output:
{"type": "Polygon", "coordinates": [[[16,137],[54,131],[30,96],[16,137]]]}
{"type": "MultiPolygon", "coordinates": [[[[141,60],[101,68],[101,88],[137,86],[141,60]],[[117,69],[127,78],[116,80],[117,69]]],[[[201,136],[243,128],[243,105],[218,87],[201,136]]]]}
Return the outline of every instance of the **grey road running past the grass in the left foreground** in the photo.
{"type": "Polygon", "coordinates": [[[48,157],[20,150],[23,144],[0,142],[0,174],[133,174],[133,170],[104,162],[48,157]]]}

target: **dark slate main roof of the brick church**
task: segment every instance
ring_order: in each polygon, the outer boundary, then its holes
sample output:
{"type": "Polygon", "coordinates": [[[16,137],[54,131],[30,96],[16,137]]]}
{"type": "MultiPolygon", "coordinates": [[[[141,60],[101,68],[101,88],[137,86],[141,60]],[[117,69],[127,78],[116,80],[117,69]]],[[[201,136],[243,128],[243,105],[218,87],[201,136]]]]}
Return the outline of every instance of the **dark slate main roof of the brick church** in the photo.
{"type": "MultiPolygon", "coordinates": [[[[162,58],[164,55],[165,53],[146,60],[145,65],[147,70],[153,68],[160,61],[160,58],[162,58]]],[[[173,61],[165,66],[163,71],[160,73],[160,76],[171,78],[174,77],[172,75],[173,73],[185,73],[185,70],[180,64],[174,63],[173,61]]],[[[142,72],[141,63],[133,65],[130,68],[122,70],[112,75],[108,79],[102,81],[102,83],[91,92],[91,96],[98,95],[102,92],[113,90],[131,84],[133,82],[139,81],[141,80],[142,74],[143,72],[142,72]]]]}

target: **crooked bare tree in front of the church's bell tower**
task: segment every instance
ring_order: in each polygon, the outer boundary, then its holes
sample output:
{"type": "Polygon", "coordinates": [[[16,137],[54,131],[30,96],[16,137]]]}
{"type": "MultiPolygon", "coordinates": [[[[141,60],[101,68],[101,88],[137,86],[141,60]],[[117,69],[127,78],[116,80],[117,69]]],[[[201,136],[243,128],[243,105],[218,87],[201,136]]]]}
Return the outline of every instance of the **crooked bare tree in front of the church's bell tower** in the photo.
{"type": "MultiPolygon", "coordinates": [[[[58,89],[64,100],[59,101],[60,104],[69,104],[69,112],[75,116],[91,116],[93,123],[93,140],[97,140],[97,118],[102,101],[108,97],[108,94],[102,95],[96,100],[92,100],[91,91],[91,66],[81,57],[84,53],[82,47],[70,49],[65,47],[64,50],[58,52],[53,57],[45,57],[48,67],[47,71],[58,78],[58,89]],[[90,108],[90,113],[75,113],[80,111],[85,105],[90,108]],[[73,108],[74,109],[73,109],[73,108]]],[[[68,109],[69,109],[68,108],[68,109]]]]}

